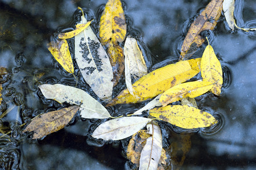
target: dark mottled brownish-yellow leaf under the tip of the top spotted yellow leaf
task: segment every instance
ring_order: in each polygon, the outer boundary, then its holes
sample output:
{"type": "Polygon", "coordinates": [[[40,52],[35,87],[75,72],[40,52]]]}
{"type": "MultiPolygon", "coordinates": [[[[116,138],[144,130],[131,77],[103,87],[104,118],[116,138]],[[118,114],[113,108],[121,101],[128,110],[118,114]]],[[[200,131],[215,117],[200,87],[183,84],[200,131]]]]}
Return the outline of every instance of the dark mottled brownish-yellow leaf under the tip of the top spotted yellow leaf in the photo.
{"type": "Polygon", "coordinates": [[[125,69],[125,57],[123,56],[123,49],[121,46],[113,44],[112,41],[110,41],[107,46],[110,63],[113,67],[113,83],[114,86],[116,86],[125,69]]]}

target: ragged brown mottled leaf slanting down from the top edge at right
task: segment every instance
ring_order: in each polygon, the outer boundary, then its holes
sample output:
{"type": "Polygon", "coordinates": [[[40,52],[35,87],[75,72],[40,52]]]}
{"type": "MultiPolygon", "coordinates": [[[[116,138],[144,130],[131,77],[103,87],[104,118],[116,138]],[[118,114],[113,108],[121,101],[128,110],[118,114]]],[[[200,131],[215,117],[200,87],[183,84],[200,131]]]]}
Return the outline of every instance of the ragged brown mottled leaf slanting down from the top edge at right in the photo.
{"type": "Polygon", "coordinates": [[[204,11],[201,12],[195,21],[191,24],[188,30],[187,36],[181,46],[180,59],[183,59],[189,51],[195,51],[195,48],[201,46],[205,39],[200,36],[200,33],[204,30],[212,30],[216,24],[218,18],[220,18],[222,11],[222,2],[224,0],[212,0],[209,2],[204,11]]]}

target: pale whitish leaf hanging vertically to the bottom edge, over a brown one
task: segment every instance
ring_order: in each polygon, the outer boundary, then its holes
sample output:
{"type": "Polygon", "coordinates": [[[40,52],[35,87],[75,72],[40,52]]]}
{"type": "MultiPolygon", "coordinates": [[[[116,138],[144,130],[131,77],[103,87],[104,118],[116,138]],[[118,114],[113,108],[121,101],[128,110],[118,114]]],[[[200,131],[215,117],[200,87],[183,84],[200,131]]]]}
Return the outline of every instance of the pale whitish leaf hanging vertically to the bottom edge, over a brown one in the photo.
{"type": "Polygon", "coordinates": [[[162,152],[162,134],[158,125],[147,124],[147,130],[152,137],[147,138],[146,145],[141,152],[139,169],[158,169],[162,152]]]}

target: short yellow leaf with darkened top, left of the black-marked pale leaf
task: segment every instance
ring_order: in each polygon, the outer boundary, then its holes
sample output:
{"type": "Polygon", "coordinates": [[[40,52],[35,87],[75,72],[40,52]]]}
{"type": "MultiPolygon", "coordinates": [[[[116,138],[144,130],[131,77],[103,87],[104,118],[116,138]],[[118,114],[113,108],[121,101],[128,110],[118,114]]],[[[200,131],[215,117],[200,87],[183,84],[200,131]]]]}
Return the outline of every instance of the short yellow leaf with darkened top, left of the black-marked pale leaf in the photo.
{"type": "Polygon", "coordinates": [[[73,61],[68,49],[67,40],[57,40],[57,42],[52,41],[47,44],[47,48],[57,62],[59,62],[68,73],[74,73],[73,61]]]}

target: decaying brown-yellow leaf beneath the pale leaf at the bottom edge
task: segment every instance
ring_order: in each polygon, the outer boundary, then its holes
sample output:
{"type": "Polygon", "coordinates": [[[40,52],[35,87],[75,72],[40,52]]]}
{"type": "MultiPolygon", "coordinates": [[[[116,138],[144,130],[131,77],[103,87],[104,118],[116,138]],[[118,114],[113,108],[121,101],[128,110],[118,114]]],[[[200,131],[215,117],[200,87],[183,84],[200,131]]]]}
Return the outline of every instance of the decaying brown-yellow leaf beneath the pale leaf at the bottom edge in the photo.
{"type": "MultiPolygon", "coordinates": [[[[127,147],[127,158],[131,160],[132,163],[136,164],[137,168],[139,167],[139,159],[141,158],[141,151],[146,145],[147,138],[151,137],[151,134],[147,133],[147,130],[139,130],[137,133],[133,134],[129,141],[127,147]]],[[[158,164],[158,169],[164,169],[166,165],[166,151],[162,149],[161,157],[158,164]]]]}

